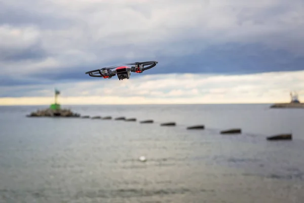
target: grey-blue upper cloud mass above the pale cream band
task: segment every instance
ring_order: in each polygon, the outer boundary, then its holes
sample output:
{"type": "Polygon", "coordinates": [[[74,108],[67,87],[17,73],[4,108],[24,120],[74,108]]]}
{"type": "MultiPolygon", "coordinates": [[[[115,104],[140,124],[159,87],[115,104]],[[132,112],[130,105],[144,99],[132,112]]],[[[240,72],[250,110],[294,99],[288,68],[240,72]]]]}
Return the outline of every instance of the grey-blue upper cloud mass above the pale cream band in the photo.
{"type": "Polygon", "coordinates": [[[53,81],[138,60],[160,61],[151,74],[301,70],[301,3],[0,1],[0,70],[53,81]]]}

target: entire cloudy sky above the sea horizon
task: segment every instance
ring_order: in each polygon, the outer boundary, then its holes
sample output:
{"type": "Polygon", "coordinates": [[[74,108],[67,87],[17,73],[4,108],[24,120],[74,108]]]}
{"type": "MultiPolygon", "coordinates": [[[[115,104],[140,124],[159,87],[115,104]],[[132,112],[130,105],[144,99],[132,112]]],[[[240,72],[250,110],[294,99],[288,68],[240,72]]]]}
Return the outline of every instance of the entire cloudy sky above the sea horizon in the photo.
{"type": "Polygon", "coordinates": [[[304,100],[302,36],[302,0],[0,0],[0,105],[304,100]]]}

